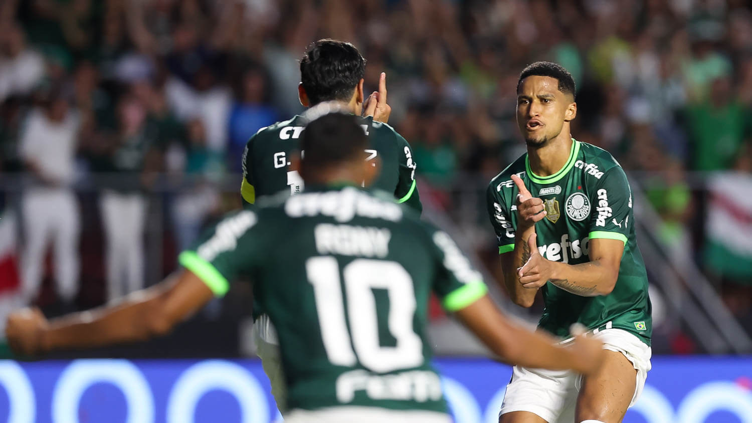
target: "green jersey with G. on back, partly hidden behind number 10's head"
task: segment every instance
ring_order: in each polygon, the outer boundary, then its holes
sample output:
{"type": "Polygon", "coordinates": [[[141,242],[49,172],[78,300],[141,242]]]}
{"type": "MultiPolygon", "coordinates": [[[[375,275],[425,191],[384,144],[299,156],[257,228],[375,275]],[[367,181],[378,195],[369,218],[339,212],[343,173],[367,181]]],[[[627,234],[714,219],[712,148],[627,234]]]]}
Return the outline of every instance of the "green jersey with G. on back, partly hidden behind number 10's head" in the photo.
{"type": "MultiPolygon", "coordinates": [[[[374,122],[373,116],[359,117],[360,126],[368,135],[371,146],[363,159],[381,159],[381,172],[371,184],[372,189],[391,192],[399,203],[422,210],[415,187],[415,162],[408,141],[390,125],[374,122]]],[[[298,149],[298,138],[305,128],[305,119],[295,116],[284,122],[260,129],[248,140],[243,152],[241,194],[248,204],[257,197],[289,190],[302,191],[303,180],[297,171],[288,170],[290,153],[298,149]]]]}

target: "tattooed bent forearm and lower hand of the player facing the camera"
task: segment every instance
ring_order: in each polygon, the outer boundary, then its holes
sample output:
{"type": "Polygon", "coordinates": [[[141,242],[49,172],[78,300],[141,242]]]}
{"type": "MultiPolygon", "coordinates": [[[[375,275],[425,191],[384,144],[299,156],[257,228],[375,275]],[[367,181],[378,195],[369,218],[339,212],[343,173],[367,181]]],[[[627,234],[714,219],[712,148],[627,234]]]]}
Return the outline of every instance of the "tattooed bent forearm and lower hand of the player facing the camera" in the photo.
{"type": "MultiPolygon", "coordinates": [[[[534,248],[535,234],[529,243],[531,249],[534,248]]],[[[566,264],[543,258],[535,248],[529,261],[517,273],[524,287],[538,289],[550,282],[583,297],[608,295],[616,286],[623,252],[622,240],[595,238],[590,240],[590,261],[566,264]]]]}

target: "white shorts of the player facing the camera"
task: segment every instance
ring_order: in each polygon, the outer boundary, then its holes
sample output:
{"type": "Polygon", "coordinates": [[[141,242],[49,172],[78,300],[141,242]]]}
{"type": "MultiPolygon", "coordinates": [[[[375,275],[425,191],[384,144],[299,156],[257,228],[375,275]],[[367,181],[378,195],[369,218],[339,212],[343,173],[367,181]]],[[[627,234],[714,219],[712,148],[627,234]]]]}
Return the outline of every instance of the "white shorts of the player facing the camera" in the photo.
{"type": "MultiPolygon", "coordinates": [[[[638,337],[621,329],[604,329],[593,335],[603,349],[621,352],[637,370],[633,406],[645,385],[650,370],[650,347],[638,337]]],[[[513,411],[532,412],[549,423],[575,421],[575,406],[582,376],[572,370],[544,370],[514,366],[499,416],[513,411]]]]}

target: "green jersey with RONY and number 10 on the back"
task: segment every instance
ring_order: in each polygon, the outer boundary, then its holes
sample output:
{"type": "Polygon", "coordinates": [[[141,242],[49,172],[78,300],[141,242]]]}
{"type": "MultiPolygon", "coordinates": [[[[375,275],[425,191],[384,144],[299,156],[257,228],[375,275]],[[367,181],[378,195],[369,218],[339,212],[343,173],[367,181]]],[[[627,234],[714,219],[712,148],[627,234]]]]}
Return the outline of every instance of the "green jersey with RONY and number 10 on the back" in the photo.
{"type": "Polygon", "coordinates": [[[277,329],[290,409],[446,412],[429,364],[429,295],[453,312],[487,292],[453,240],[355,187],[268,203],[223,219],[180,264],[217,295],[252,281],[277,329]]]}

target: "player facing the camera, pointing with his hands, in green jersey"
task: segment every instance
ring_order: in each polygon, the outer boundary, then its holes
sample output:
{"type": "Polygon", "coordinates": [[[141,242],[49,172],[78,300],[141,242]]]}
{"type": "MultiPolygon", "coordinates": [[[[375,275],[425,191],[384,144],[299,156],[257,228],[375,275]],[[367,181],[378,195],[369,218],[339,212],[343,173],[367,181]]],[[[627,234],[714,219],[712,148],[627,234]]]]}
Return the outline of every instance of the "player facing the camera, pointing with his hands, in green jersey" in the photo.
{"type": "Polygon", "coordinates": [[[572,138],[576,115],[568,71],[551,62],[522,71],[517,125],[527,153],[491,180],[488,213],[512,301],[530,307],[541,290],[538,327],[567,337],[581,323],[608,358],[582,379],[515,367],[502,423],[621,421],[650,370],[650,298],[629,183],[611,154],[572,138]]]}

